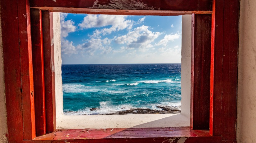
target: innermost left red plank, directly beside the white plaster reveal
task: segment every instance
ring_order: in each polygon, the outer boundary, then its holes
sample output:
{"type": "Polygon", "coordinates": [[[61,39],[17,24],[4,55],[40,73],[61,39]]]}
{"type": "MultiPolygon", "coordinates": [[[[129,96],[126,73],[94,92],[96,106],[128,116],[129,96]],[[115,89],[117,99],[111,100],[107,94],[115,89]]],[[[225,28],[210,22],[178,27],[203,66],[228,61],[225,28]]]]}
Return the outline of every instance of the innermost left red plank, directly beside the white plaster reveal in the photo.
{"type": "Polygon", "coordinates": [[[46,131],[56,129],[55,74],[52,12],[42,11],[46,131]]]}

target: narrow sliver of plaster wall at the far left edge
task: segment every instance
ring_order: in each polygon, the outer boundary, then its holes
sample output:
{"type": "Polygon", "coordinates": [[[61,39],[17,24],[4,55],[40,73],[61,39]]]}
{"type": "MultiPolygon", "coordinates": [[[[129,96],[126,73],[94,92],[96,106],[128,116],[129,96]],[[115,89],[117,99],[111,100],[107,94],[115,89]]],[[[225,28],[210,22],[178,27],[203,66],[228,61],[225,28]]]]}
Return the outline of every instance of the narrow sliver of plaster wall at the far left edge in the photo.
{"type": "MultiPolygon", "coordinates": [[[[1,7],[0,7],[1,8],[1,7]]],[[[1,14],[0,14],[1,16],[1,14]]],[[[4,67],[3,67],[3,46],[2,46],[2,28],[0,19],[0,142],[6,143],[7,138],[7,116],[5,102],[5,84],[4,84],[4,67]]]]}

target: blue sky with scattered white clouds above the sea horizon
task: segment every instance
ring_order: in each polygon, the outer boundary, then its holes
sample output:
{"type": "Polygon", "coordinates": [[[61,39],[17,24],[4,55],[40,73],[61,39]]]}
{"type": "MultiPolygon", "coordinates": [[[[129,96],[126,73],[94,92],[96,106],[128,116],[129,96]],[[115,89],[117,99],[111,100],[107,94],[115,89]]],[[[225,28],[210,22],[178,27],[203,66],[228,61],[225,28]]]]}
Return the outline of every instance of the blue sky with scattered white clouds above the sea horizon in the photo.
{"type": "Polygon", "coordinates": [[[61,13],[62,64],[181,63],[181,16],[61,13]]]}

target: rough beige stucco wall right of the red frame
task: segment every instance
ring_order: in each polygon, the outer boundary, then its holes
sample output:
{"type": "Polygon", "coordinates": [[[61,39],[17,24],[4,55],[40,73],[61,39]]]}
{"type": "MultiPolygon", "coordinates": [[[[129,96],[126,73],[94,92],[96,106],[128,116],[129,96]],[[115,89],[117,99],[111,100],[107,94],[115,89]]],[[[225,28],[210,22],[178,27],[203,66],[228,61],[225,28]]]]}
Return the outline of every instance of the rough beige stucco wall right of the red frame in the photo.
{"type": "Polygon", "coordinates": [[[256,1],[240,2],[237,142],[256,141],[256,1]]]}

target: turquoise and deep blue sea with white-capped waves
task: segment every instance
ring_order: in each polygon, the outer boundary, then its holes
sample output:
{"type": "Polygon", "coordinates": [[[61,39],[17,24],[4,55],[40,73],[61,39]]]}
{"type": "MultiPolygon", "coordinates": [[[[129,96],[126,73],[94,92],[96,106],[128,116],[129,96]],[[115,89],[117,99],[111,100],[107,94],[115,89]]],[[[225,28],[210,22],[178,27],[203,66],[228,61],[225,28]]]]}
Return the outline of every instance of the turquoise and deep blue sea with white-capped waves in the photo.
{"type": "Polygon", "coordinates": [[[76,64],[62,65],[61,69],[66,115],[181,107],[180,63],[76,64]]]}

